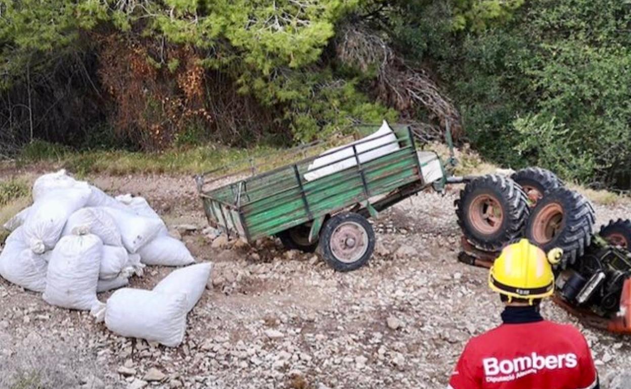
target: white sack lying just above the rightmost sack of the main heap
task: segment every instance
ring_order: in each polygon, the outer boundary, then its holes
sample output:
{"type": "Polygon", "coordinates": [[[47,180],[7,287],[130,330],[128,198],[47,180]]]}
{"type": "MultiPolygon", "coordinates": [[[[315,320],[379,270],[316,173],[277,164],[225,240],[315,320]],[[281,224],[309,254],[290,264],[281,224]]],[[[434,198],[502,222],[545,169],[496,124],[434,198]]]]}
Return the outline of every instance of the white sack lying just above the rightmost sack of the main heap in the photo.
{"type": "Polygon", "coordinates": [[[150,241],[163,225],[159,219],[145,218],[132,212],[112,207],[98,207],[112,216],[121,233],[122,244],[127,251],[135,253],[150,241]]]}

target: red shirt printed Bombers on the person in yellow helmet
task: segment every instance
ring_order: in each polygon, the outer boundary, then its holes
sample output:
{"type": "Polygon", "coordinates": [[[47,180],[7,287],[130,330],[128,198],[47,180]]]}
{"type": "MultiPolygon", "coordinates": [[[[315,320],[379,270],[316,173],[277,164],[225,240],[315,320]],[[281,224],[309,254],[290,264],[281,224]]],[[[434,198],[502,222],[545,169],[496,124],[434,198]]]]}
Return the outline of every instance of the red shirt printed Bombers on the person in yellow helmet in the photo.
{"type": "Polygon", "coordinates": [[[469,340],[451,389],[591,389],[598,374],[581,332],[547,320],[502,324],[469,340]]]}

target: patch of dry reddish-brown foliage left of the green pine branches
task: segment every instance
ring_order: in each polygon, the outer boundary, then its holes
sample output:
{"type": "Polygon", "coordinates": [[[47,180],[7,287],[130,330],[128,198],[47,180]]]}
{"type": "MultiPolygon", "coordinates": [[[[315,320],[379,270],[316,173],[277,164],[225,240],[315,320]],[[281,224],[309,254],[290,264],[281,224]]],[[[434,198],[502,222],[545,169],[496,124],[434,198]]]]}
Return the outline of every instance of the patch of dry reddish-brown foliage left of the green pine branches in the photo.
{"type": "Polygon", "coordinates": [[[187,126],[212,122],[204,107],[205,73],[194,50],[115,35],[97,38],[98,75],[115,103],[113,122],[119,135],[144,149],[163,149],[187,126]],[[157,52],[161,62],[152,63],[157,52]],[[167,59],[179,66],[168,69],[167,59]]]}

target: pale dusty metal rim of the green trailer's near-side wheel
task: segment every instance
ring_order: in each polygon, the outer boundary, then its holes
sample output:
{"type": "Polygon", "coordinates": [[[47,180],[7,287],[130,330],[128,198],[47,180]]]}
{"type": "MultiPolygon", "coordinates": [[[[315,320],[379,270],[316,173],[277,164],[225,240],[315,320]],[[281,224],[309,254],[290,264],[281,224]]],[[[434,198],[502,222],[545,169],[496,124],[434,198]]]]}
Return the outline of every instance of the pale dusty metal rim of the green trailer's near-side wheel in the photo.
{"type": "Polygon", "coordinates": [[[329,241],[333,256],[340,262],[357,262],[368,250],[368,233],[359,223],[349,221],[339,224],[329,241]]]}

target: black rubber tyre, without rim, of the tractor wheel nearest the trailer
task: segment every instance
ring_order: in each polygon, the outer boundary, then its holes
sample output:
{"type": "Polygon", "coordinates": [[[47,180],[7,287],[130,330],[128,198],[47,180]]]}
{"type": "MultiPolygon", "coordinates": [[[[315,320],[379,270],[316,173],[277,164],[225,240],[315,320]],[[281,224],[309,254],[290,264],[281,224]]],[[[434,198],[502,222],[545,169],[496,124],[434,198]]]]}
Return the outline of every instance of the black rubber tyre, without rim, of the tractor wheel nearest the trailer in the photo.
{"type": "Polygon", "coordinates": [[[510,241],[522,235],[522,229],[528,219],[528,198],[516,182],[503,175],[484,175],[471,180],[460,191],[460,197],[454,202],[458,225],[464,237],[475,247],[485,251],[497,251],[510,241]],[[471,200],[480,194],[493,195],[504,213],[502,226],[493,235],[476,231],[468,219],[471,200]]]}

